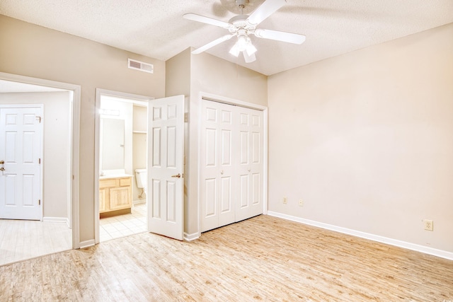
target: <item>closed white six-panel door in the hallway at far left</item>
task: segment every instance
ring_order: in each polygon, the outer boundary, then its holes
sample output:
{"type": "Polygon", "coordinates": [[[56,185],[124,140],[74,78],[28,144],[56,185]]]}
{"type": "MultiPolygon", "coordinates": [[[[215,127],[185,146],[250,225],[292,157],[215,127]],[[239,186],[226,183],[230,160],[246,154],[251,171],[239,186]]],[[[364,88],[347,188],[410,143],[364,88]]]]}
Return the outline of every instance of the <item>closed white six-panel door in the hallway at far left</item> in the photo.
{"type": "Polygon", "coordinates": [[[43,105],[0,106],[1,219],[42,220],[42,111],[43,105]]]}

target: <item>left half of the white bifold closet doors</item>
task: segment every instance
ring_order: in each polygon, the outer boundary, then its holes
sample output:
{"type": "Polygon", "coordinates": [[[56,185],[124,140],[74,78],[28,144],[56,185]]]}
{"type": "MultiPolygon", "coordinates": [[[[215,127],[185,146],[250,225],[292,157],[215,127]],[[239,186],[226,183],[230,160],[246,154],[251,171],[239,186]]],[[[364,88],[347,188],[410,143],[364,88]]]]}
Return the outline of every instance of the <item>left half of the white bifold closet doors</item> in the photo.
{"type": "Polygon", "coordinates": [[[233,223],[237,117],[234,106],[202,100],[201,231],[233,223]]]}

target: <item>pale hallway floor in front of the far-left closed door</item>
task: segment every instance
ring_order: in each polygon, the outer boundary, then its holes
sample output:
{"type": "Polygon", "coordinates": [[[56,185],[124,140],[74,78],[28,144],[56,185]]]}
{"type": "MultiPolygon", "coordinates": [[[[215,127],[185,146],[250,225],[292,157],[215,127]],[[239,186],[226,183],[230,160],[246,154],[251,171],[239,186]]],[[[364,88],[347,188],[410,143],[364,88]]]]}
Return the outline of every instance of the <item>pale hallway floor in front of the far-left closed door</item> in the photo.
{"type": "Polygon", "coordinates": [[[66,223],[0,219],[0,265],[71,250],[66,223]]]}

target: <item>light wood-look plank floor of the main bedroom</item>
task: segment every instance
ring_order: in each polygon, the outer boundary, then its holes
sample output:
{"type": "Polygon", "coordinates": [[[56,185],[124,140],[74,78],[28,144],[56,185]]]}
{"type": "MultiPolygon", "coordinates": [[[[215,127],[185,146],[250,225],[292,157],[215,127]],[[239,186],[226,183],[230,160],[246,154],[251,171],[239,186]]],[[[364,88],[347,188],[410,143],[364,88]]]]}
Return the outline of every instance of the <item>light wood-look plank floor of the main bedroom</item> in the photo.
{"type": "Polygon", "coordinates": [[[0,301],[449,301],[453,261],[271,216],[0,267],[0,301]]]}

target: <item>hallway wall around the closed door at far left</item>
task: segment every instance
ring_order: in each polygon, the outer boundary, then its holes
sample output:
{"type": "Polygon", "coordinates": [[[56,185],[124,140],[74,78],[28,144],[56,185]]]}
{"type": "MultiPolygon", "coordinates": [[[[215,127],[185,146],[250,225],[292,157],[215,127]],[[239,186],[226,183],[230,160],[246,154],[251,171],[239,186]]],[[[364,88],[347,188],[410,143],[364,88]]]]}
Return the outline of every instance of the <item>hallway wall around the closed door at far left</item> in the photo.
{"type": "Polygon", "coordinates": [[[43,104],[42,207],[45,219],[68,219],[71,178],[69,92],[0,93],[0,104],[43,104]]]}

